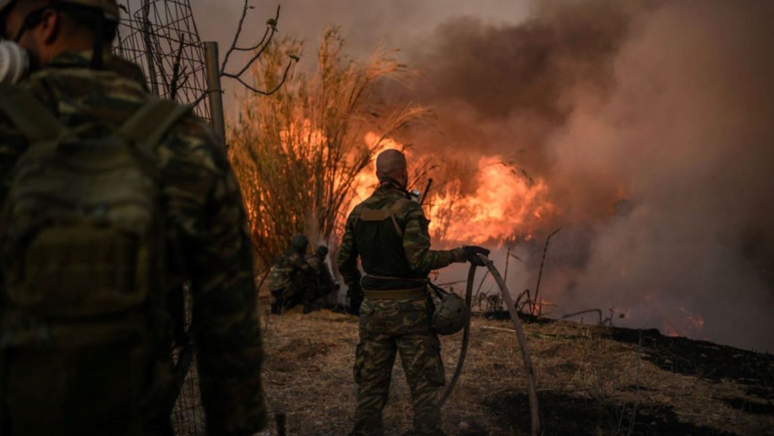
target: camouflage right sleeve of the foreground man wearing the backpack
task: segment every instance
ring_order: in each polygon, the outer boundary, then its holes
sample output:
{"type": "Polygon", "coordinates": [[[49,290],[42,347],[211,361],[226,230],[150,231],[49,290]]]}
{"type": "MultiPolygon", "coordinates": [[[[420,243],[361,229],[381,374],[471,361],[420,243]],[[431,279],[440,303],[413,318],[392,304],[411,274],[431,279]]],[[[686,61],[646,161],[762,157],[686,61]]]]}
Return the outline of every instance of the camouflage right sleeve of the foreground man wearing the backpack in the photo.
{"type": "Polygon", "coordinates": [[[191,119],[176,132],[164,194],[191,277],[207,434],[255,433],[266,424],[263,350],[241,194],[206,125],[191,119]]]}

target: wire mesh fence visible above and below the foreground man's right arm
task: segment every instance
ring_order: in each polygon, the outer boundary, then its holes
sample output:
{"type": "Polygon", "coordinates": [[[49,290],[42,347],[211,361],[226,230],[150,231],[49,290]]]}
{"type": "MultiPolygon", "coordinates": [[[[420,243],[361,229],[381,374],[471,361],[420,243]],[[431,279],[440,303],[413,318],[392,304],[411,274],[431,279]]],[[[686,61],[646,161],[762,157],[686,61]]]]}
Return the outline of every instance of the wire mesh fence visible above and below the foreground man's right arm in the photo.
{"type": "MultiPolygon", "coordinates": [[[[211,121],[207,99],[204,48],[188,0],[124,0],[114,53],[142,67],[153,94],[191,105],[211,121]]],[[[183,334],[172,350],[177,390],[172,424],[177,436],[205,434],[204,409],[193,341],[191,298],[183,289],[183,334]]]]}

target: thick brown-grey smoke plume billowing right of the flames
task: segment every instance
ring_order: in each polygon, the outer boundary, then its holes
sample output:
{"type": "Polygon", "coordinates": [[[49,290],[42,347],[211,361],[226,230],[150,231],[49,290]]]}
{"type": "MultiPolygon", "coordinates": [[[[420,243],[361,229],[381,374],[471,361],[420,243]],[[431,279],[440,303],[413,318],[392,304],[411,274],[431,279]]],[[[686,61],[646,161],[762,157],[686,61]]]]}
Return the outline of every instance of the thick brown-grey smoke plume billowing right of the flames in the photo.
{"type": "MultiPolygon", "coordinates": [[[[774,351],[772,19],[771,2],[721,0],[454,19],[409,50],[420,78],[397,98],[437,112],[417,149],[547,181],[543,233],[563,231],[541,293],[560,312],[774,351]]],[[[544,237],[517,245],[515,290],[533,287],[544,237]]]]}

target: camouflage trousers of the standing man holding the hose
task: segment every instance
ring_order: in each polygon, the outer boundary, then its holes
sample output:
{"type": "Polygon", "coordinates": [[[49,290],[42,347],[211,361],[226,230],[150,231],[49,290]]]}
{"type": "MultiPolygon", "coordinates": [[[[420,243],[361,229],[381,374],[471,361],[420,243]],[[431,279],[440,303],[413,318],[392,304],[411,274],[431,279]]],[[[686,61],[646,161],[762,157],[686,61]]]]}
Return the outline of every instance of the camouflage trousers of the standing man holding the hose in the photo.
{"type": "Polygon", "coordinates": [[[389,397],[397,353],[411,389],[416,436],[442,435],[439,389],[445,384],[440,341],[430,330],[424,300],[365,299],[360,310],[360,343],[354,380],[358,406],[351,436],[382,436],[382,409],[389,397]]]}

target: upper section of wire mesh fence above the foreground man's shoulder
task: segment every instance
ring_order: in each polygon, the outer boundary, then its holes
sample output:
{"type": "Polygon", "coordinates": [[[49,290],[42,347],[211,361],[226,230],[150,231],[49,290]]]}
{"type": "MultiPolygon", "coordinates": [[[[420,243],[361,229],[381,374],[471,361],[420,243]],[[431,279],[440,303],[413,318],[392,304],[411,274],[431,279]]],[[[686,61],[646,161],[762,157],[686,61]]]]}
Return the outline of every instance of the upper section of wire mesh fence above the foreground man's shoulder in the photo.
{"type": "Polygon", "coordinates": [[[125,0],[114,52],[138,64],[153,94],[209,121],[204,48],[188,0],[125,0]]]}

